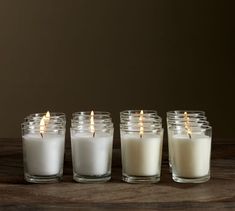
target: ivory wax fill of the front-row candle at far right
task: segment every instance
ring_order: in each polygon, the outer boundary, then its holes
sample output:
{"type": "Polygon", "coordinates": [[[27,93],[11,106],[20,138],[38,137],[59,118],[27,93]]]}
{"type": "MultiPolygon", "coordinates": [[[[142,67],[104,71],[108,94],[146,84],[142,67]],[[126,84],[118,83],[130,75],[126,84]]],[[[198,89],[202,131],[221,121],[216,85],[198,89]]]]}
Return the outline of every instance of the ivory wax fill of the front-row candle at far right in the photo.
{"type": "Polygon", "coordinates": [[[211,138],[192,134],[172,136],[173,172],[179,177],[196,178],[209,173],[211,138]]]}

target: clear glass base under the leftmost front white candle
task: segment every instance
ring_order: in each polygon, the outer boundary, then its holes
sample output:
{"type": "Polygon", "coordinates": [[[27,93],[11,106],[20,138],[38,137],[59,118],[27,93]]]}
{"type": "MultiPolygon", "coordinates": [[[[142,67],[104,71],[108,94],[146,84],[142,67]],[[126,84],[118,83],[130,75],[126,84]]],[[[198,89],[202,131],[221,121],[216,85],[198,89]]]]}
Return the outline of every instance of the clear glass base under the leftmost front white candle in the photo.
{"type": "Polygon", "coordinates": [[[29,174],[24,175],[24,179],[30,183],[56,183],[62,180],[61,175],[52,175],[52,176],[32,176],[29,174]]]}

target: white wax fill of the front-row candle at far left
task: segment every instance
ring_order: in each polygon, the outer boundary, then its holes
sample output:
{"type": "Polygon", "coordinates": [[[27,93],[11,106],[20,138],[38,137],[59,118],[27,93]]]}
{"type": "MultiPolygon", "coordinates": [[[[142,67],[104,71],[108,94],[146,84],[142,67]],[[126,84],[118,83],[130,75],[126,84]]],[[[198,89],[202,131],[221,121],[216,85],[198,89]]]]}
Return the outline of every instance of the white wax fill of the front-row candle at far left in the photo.
{"type": "Polygon", "coordinates": [[[27,134],[23,136],[26,172],[30,175],[58,174],[64,161],[64,135],[27,134]]]}

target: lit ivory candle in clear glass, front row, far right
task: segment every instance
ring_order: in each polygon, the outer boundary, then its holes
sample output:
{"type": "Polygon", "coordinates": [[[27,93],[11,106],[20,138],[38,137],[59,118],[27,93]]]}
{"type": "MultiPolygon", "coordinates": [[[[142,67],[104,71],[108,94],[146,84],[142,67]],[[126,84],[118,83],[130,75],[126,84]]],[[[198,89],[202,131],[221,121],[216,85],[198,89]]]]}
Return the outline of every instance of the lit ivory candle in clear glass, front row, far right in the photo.
{"type": "Polygon", "coordinates": [[[172,178],[179,183],[202,183],[210,179],[212,128],[208,125],[170,128],[172,178]]]}

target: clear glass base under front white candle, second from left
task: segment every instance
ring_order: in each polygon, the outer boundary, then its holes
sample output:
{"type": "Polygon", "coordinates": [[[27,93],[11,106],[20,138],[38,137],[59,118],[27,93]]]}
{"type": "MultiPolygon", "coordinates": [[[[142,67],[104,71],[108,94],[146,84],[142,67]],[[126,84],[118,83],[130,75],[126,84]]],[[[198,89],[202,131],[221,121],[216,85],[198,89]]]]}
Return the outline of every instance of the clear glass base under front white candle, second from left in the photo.
{"type": "Polygon", "coordinates": [[[111,175],[102,176],[87,176],[87,175],[73,175],[73,179],[80,183],[104,183],[111,179],[111,175]]]}

